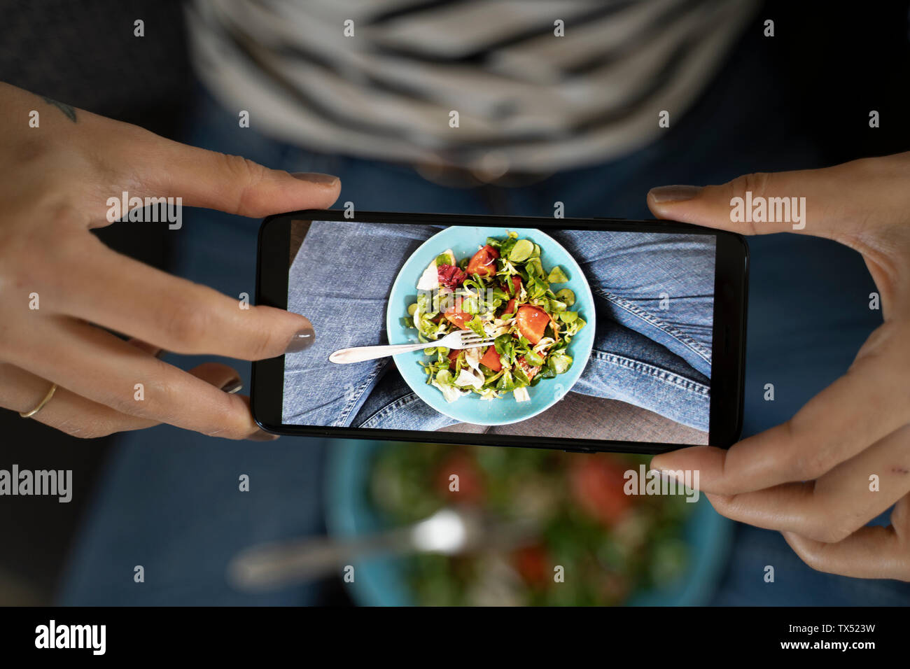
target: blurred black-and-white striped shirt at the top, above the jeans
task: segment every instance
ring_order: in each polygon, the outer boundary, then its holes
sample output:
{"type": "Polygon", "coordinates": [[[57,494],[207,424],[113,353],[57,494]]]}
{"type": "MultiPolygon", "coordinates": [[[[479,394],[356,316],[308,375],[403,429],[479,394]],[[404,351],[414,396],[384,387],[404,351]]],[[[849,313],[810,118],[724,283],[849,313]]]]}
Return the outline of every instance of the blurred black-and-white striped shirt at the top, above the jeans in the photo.
{"type": "Polygon", "coordinates": [[[754,0],[195,0],[199,76],[250,125],[357,157],[549,173],[703,91],[754,0]]]}

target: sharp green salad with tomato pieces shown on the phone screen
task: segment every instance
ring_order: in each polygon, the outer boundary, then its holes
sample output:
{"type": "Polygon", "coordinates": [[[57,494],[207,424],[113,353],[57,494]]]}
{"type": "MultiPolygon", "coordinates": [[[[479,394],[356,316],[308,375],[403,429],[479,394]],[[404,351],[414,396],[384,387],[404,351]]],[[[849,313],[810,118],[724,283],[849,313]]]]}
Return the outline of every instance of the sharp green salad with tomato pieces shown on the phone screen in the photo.
{"type": "Polygon", "coordinates": [[[488,237],[471,258],[441,253],[420,276],[402,325],[417,329],[422,342],[469,329],[493,343],[424,350],[427,383],[450,402],[470,393],[531,400],[530,388],[571,368],[569,344],[585,326],[571,309],[575,294],[558,288],[568,280],[558,265],[545,269],[541,247],[515,232],[488,237]]]}

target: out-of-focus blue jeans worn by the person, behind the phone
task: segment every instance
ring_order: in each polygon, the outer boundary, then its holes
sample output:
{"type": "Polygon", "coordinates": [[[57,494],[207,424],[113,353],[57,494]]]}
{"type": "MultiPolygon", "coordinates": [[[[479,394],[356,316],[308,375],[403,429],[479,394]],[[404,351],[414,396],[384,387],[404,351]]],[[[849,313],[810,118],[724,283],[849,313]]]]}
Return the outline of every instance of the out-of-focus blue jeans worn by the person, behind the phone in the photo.
{"type": "MultiPolygon", "coordinates": [[[[698,103],[662,141],[612,163],[555,175],[535,188],[457,190],[432,185],[409,167],[325,157],[238,130],[237,117],[205,96],[186,141],[272,167],[339,174],[340,201],[362,210],[649,218],[648,188],[723,183],[756,170],[821,167],[785,99],[768,89],[755,51],[740,48],[698,103]]],[[[214,212],[187,214],[172,270],[230,295],[253,292],[258,222],[214,212]]],[[[862,258],[824,239],[773,235],[750,240],[752,279],[744,433],[786,420],[843,374],[880,322],[866,308],[874,289],[862,258]],[[763,400],[764,384],[775,400],[763,400]]],[[[183,366],[198,357],[170,358],[183,366]]],[[[233,361],[245,378],[248,366],[233,361]]],[[[227,587],[224,568],[254,542],[323,532],[321,466],[330,442],[284,437],[275,443],[207,439],[162,426],[128,433],[109,464],[76,543],[60,595],[82,604],[314,603],[310,586],[249,595],[227,587]],[[250,475],[248,493],[237,490],[250,475]],[[146,583],[133,583],[133,567],[146,583]]],[[[805,566],[778,532],[740,525],[715,602],[777,604],[910,603],[910,585],[861,581],[805,566]],[[772,564],[776,583],[763,583],[772,564]]]]}

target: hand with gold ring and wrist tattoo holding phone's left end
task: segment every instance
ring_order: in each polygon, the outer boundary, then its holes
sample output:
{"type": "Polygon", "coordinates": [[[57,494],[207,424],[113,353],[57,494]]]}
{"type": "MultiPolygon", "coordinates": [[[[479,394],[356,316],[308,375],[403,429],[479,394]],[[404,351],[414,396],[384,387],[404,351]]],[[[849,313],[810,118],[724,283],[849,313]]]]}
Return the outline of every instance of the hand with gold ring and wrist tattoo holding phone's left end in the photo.
{"type": "Polygon", "coordinates": [[[248,398],[230,392],[236,370],[207,363],[187,372],[156,354],[271,358],[313,340],[308,319],[241,309],[239,299],[106,248],[89,230],[108,224],[107,199],[123,191],[261,218],[328,208],[340,182],[187,147],[0,84],[0,406],[30,411],[56,383],[34,418],[77,437],[166,422],[273,438],[248,398]],[[33,110],[38,127],[29,125],[33,110]]]}

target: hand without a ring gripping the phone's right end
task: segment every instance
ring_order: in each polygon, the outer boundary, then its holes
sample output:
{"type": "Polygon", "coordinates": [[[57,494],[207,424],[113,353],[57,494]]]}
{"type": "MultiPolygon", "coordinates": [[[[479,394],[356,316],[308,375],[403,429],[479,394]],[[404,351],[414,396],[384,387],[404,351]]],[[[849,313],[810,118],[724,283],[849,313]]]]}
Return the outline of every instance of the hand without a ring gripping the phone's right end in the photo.
{"type": "Polygon", "coordinates": [[[814,569],[910,581],[910,152],[655,188],[648,205],[660,218],[746,234],[795,231],[863,254],[885,322],[844,376],[789,421],[728,451],[693,446],[654,456],[651,466],[699,471],[717,512],[782,532],[814,569]],[[735,202],[749,198],[770,212],[771,202],[797,196],[799,223],[785,215],[733,222],[735,202]],[[867,525],[892,506],[891,525],[867,525]]]}

